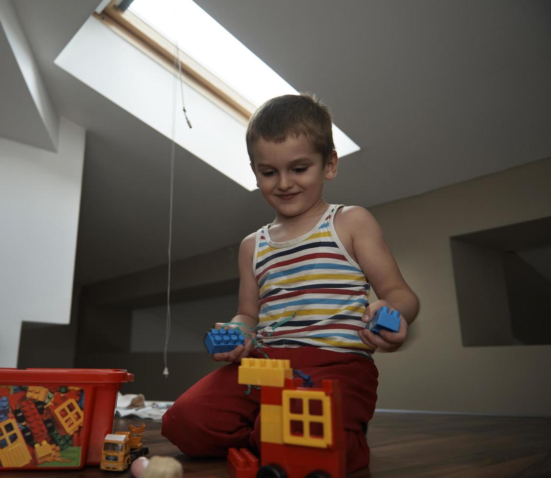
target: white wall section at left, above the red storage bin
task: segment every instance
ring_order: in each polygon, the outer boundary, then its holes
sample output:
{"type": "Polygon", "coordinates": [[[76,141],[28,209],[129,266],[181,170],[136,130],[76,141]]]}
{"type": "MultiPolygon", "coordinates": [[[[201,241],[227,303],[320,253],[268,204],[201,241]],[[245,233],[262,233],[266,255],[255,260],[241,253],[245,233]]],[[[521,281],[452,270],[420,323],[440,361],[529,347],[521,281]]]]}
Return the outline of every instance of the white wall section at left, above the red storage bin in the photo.
{"type": "Polygon", "coordinates": [[[57,153],[0,138],[2,367],[17,365],[21,321],[69,323],[84,144],[64,118],[57,153]]]}

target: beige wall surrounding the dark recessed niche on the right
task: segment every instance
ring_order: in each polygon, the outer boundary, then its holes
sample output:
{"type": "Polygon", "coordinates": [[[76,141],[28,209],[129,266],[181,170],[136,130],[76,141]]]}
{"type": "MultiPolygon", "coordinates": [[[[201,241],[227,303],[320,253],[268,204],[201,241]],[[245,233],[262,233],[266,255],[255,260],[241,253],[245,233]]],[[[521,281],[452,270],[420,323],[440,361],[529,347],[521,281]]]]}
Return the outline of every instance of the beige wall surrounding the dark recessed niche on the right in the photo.
{"type": "Polygon", "coordinates": [[[406,345],[374,356],[377,408],[551,415],[551,345],[463,347],[450,247],[450,236],[551,216],[551,159],[370,210],[421,300],[406,345]]]}

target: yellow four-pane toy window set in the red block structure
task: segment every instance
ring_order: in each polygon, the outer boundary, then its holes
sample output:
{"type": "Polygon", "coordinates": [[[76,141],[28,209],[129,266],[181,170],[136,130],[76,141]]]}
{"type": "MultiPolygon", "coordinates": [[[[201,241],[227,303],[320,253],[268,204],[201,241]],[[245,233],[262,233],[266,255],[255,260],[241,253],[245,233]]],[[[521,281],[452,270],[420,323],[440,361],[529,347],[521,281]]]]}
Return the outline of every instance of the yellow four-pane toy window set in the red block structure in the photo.
{"type": "Polygon", "coordinates": [[[316,448],[327,448],[333,443],[331,400],[321,390],[283,390],[282,408],[283,443],[316,448]],[[302,413],[291,413],[291,399],[302,401],[302,413]],[[321,401],[321,415],[310,414],[310,400],[321,401]],[[302,423],[301,434],[291,433],[291,420],[302,423]],[[321,423],[323,436],[311,436],[310,423],[321,423]]]}

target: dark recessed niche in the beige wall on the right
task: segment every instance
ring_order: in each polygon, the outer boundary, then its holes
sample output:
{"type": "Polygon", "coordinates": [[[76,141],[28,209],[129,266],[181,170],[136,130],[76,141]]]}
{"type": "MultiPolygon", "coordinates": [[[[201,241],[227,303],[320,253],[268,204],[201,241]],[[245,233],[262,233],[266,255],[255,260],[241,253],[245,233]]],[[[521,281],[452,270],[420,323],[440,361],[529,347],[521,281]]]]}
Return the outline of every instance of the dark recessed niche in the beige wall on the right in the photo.
{"type": "Polygon", "coordinates": [[[450,242],[463,346],[551,344],[551,217],[450,242]]]}

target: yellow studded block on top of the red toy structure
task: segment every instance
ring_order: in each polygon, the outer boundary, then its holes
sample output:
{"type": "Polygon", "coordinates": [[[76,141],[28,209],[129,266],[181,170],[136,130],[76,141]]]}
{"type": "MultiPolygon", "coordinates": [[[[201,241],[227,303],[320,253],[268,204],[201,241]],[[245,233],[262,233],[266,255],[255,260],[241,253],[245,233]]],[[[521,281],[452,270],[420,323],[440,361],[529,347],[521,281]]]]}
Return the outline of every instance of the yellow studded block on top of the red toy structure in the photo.
{"type": "Polygon", "coordinates": [[[242,358],[237,382],[241,385],[283,387],[285,378],[293,377],[289,360],[279,358],[242,358]]]}

